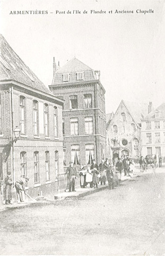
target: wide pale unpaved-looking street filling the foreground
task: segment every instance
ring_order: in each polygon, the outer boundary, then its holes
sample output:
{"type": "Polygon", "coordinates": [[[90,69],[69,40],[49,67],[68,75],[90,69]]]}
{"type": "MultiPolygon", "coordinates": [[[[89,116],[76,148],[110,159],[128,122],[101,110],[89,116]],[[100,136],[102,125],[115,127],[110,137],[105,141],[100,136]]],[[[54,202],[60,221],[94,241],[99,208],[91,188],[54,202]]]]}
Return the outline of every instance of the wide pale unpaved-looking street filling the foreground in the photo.
{"type": "Polygon", "coordinates": [[[165,255],[165,169],[79,200],[0,212],[1,255],[165,255]]]}

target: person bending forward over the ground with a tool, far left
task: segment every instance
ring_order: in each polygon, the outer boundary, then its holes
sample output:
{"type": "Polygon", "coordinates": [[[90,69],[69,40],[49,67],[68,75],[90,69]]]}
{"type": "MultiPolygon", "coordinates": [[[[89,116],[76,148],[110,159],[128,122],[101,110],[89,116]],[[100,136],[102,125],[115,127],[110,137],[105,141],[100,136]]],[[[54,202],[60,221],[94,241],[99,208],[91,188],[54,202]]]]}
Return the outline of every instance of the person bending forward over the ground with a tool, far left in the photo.
{"type": "Polygon", "coordinates": [[[25,177],[25,179],[21,177],[20,179],[15,181],[15,188],[16,188],[16,195],[18,198],[18,202],[25,201],[24,188],[28,180],[29,180],[29,177],[25,177]]]}

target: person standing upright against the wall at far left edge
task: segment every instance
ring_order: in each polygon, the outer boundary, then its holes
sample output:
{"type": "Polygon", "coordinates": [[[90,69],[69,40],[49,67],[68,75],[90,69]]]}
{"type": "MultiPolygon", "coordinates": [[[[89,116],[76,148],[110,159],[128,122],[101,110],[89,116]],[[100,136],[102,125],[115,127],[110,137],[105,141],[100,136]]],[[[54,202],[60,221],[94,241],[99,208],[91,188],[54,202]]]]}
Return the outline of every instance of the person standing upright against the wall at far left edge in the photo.
{"type": "Polygon", "coordinates": [[[12,178],[11,178],[11,172],[7,172],[7,177],[5,178],[5,189],[4,189],[4,198],[5,198],[5,204],[12,204],[12,178]]]}

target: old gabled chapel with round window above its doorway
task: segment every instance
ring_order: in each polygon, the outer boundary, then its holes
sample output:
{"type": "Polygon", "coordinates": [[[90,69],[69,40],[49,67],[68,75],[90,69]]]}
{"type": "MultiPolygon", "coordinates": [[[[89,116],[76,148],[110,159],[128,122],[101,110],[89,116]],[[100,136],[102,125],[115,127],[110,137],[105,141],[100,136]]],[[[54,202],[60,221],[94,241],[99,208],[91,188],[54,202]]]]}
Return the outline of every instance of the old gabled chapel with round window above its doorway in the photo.
{"type": "Polygon", "coordinates": [[[108,152],[111,159],[141,155],[141,118],[147,113],[146,104],[121,100],[114,115],[107,121],[108,152]]]}

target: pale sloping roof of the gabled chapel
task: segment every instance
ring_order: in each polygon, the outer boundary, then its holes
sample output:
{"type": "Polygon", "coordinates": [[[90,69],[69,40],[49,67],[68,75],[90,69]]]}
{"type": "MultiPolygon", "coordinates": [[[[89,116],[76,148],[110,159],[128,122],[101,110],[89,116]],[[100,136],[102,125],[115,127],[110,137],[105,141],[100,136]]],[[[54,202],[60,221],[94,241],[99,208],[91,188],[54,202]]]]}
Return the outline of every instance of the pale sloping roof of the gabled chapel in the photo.
{"type": "Polygon", "coordinates": [[[124,101],[124,100],[123,100],[123,102],[124,102],[126,108],[128,109],[129,113],[135,119],[135,121],[138,124],[140,124],[142,117],[147,114],[147,111],[148,111],[147,103],[129,102],[129,101],[124,101]]]}

